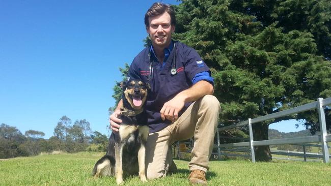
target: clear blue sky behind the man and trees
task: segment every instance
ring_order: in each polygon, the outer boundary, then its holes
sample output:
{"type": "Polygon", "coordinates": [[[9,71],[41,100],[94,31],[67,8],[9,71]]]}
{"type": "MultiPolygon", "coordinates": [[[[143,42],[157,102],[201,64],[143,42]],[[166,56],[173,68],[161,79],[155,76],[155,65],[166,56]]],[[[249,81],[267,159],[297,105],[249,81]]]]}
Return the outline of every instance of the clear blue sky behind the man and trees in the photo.
{"type": "Polygon", "coordinates": [[[143,49],[154,2],[0,0],[0,123],[49,138],[66,115],[107,134],[119,67],[143,49]]]}

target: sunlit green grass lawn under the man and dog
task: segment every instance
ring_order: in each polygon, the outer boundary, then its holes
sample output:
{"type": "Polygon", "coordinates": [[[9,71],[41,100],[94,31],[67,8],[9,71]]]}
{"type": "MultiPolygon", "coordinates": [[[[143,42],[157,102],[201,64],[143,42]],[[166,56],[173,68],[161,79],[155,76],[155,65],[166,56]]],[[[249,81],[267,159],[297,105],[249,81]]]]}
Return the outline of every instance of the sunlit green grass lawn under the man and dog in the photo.
{"type": "MultiPolygon", "coordinates": [[[[0,185],[116,185],[115,178],[94,179],[94,163],[104,153],[41,155],[0,160],[0,185]]],[[[189,185],[187,161],[175,160],[178,171],[143,183],[137,176],[124,185],[189,185]]],[[[331,164],[317,162],[212,161],[209,185],[330,185],[331,164]]]]}

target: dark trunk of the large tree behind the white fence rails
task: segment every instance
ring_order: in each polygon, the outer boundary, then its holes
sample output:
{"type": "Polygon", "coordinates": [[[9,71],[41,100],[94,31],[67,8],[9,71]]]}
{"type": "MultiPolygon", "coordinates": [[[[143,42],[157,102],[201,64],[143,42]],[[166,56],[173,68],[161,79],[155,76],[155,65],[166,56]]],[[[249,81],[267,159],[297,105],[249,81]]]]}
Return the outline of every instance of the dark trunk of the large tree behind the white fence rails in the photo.
{"type": "MultiPolygon", "coordinates": [[[[269,125],[255,123],[253,127],[254,141],[268,140],[269,125]]],[[[272,160],[269,145],[254,146],[255,160],[257,162],[270,162],[272,160]]]]}

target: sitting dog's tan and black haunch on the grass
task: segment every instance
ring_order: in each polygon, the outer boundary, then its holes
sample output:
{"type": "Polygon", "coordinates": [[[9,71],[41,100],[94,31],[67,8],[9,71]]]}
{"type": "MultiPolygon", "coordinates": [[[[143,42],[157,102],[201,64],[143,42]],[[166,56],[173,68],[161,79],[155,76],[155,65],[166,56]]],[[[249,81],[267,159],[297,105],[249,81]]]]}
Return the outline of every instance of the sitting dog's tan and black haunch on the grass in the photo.
{"type": "Polygon", "coordinates": [[[101,176],[112,176],[115,173],[115,160],[107,154],[95,163],[92,175],[97,178],[101,176]]]}

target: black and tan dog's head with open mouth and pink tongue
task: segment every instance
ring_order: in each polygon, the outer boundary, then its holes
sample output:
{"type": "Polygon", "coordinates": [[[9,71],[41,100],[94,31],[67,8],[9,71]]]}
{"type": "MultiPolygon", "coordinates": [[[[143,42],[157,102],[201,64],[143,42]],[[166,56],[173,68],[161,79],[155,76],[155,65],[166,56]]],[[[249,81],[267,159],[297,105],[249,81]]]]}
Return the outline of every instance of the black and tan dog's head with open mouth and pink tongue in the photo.
{"type": "Polygon", "coordinates": [[[140,110],[145,104],[148,90],[151,89],[149,83],[141,80],[129,80],[122,81],[120,86],[123,88],[124,107],[128,108],[128,103],[133,110],[140,110]]]}

